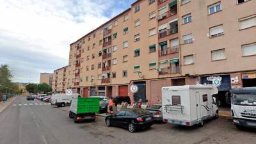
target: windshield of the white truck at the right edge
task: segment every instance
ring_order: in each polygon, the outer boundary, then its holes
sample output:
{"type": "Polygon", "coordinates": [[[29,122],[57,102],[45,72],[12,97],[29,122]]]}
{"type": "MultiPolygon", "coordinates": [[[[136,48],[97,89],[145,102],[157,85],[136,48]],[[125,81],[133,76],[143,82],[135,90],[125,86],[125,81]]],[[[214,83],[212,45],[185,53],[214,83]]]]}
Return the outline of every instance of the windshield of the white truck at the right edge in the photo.
{"type": "Polygon", "coordinates": [[[242,106],[256,106],[255,94],[233,94],[232,104],[242,106]]]}

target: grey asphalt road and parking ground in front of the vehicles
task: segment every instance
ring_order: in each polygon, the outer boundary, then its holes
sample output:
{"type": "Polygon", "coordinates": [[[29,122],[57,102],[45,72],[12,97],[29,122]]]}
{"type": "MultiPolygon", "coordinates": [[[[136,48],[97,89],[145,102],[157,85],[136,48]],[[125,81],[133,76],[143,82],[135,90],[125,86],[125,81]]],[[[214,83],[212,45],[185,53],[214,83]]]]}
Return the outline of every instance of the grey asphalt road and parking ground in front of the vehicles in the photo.
{"type": "Polygon", "coordinates": [[[256,143],[255,130],[239,130],[230,120],[219,118],[204,127],[154,124],[150,129],[130,133],[106,127],[104,118],[75,124],[67,111],[52,108],[39,100],[18,97],[0,114],[0,144],[81,144],[81,143],[256,143]],[[35,104],[36,103],[36,104],[35,104]]]}

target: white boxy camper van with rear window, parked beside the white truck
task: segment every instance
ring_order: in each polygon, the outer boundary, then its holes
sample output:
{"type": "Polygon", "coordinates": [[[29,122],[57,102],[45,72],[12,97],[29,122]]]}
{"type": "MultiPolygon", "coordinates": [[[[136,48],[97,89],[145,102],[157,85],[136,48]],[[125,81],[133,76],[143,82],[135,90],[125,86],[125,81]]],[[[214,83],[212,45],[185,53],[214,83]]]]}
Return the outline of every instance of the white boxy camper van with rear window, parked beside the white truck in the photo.
{"type": "Polygon", "coordinates": [[[170,86],[162,88],[163,120],[172,124],[204,126],[204,120],[218,118],[212,85],[170,86]]]}

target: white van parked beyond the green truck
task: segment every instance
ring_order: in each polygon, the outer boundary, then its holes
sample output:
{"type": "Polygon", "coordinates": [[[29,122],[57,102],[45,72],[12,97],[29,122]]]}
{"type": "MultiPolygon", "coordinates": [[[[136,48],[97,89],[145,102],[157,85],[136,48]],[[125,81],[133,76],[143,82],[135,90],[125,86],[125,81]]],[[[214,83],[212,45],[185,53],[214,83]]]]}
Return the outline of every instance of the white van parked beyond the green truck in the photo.
{"type": "Polygon", "coordinates": [[[71,95],[67,95],[66,93],[55,93],[51,97],[51,105],[63,107],[70,106],[72,99],[81,97],[78,93],[72,93],[71,95]]]}

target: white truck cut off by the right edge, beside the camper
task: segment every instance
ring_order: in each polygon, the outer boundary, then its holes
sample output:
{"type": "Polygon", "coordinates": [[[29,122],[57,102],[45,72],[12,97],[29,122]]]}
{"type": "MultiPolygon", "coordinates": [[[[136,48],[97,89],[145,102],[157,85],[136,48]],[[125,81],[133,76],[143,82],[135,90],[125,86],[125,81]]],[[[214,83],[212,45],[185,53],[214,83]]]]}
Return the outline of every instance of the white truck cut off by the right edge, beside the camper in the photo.
{"type": "Polygon", "coordinates": [[[231,90],[231,113],[237,128],[256,128],[256,87],[231,90]]]}

